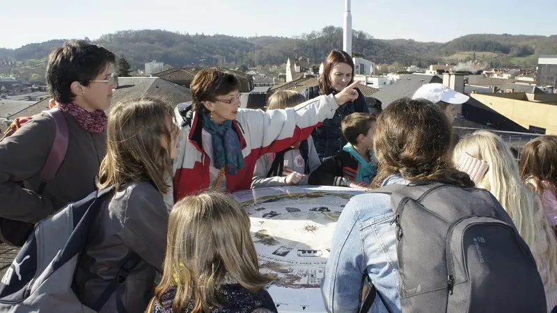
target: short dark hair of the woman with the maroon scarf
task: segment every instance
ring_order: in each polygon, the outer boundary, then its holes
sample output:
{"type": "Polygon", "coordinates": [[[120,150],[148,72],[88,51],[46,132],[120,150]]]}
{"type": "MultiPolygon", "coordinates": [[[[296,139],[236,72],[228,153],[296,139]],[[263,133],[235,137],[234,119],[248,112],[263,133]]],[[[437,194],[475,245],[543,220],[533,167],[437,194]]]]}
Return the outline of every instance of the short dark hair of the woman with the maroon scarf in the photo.
{"type": "Polygon", "coordinates": [[[84,40],[68,40],[48,57],[49,93],[56,102],[70,103],[75,97],[70,89],[74,81],[89,86],[98,74],[114,63],[116,56],[111,51],[84,40]]]}

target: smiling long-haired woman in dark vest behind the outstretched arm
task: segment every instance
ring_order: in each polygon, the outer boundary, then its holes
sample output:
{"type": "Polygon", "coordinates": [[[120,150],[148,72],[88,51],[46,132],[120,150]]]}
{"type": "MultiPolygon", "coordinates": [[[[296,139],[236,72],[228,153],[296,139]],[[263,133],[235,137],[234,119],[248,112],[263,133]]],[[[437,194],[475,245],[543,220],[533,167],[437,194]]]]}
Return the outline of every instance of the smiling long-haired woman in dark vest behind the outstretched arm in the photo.
{"type": "MultiPolygon", "coordinates": [[[[306,99],[313,99],[319,95],[335,95],[354,81],[354,62],[352,58],[341,50],[333,50],[327,56],[323,67],[323,74],[319,77],[319,90],[308,88],[304,91],[306,99]]],[[[356,89],[357,90],[357,89],[356,89]]],[[[316,127],[311,134],[317,155],[323,161],[343,149],[347,141],[340,132],[340,122],[354,112],[369,113],[366,97],[357,90],[358,97],[338,107],[333,118],[323,121],[323,125],[316,127]]]]}

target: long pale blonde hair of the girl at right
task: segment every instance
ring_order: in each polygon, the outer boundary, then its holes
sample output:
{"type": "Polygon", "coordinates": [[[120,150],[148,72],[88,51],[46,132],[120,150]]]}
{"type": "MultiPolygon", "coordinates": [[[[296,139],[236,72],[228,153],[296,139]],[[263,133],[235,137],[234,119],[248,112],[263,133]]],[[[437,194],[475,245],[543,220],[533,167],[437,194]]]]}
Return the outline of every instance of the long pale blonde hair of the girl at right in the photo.
{"type": "Polygon", "coordinates": [[[464,153],[489,165],[485,175],[475,182],[476,186],[487,189],[499,200],[530,247],[544,285],[554,290],[557,287],[557,243],[540,198],[521,181],[518,163],[510,150],[496,134],[476,131],[457,143],[453,161],[458,162],[464,153]]]}

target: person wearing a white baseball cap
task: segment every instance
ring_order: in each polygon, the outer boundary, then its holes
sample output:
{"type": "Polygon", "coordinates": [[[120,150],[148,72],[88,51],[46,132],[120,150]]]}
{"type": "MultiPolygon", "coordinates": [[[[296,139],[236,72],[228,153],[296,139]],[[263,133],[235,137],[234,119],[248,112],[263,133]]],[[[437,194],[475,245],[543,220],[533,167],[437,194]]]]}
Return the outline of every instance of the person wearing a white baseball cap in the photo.
{"type": "Polygon", "coordinates": [[[470,99],[467,95],[457,93],[455,90],[444,86],[442,83],[426,83],[416,90],[412,99],[427,99],[437,104],[445,112],[450,124],[457,117],[455,104],[463,104],[470,99]]]}

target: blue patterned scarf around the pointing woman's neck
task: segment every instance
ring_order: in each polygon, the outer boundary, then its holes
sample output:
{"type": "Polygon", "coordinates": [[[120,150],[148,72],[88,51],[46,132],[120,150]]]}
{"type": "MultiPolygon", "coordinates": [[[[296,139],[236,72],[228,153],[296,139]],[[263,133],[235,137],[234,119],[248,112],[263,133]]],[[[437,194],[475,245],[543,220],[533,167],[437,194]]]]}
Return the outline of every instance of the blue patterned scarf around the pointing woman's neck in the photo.
{"type": "Polygon", "coordinates": [[[211,134],[214,167],[226,166],[230,175],[236,175],[245,164],[240,139],[232,127],[232,121],[226,120],[221,125],[217,125],[208,114],[203,114],[201,125],[211,134]]]}

